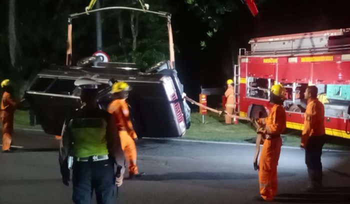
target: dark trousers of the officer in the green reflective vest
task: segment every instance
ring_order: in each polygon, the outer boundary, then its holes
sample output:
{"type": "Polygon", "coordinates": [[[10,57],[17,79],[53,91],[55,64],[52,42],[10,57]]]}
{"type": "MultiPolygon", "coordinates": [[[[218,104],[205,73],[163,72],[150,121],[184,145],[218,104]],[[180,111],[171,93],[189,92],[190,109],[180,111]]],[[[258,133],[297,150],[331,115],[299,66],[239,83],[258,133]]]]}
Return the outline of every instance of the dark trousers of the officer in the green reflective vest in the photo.
{"type": "Polygon", "coordinates": [[[73,201],[74,203],[91,203],[95,190],[97,203],[115,203],[112,199],[115,191],[114,162],[112,159],[73,162],[73,201]]]}

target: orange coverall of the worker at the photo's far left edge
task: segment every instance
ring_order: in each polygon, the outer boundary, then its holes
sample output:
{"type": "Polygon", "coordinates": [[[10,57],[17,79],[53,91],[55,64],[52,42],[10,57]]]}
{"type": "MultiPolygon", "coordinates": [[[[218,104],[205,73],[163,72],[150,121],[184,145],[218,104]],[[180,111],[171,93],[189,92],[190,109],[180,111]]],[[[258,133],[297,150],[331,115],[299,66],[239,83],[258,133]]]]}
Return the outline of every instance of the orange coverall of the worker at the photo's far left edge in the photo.
{"type": "Polygon", "coordinates": [[[2,119],[2,150],[8,150],[12,142],[13,114],[17,103],[8,92],[4,92],[1,99],[2,119]]]}

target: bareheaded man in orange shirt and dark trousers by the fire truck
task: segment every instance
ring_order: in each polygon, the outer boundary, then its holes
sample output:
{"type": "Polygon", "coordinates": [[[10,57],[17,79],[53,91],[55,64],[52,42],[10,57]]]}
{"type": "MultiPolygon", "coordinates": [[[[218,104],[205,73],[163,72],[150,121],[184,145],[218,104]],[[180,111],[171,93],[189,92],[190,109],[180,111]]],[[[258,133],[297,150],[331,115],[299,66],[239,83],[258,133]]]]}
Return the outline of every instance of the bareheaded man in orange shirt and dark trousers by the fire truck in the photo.
{"type": "Polygon", "coordinates": [[[324,106],[317,99],[317,91],[317,87],[312,85],[307,86],[304,93],[307,105],[300,147],[305,149],[305,163],[310,179],[308,190],[317,190],[322,187],[321,154],[325,142],[324,106]]]}

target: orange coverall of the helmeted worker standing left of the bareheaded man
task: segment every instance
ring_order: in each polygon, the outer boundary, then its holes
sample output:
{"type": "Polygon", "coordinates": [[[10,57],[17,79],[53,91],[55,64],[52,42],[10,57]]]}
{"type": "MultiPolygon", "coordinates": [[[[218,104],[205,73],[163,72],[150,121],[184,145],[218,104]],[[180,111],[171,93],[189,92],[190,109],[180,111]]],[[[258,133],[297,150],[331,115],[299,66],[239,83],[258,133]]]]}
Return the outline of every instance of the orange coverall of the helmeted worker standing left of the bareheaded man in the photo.
{"type": "MultiPolygon", "coordinates": [[[[285,129],[285,110],[282,105],[273,104],[265,118],[266,134],[278,135],[285,129]]],[[[277,194],[277,165],[282,140],[280,136],[266,138],[259,160],[260,195],[264,200],[272,200],[277,194]]]]}

